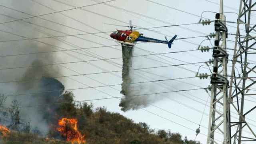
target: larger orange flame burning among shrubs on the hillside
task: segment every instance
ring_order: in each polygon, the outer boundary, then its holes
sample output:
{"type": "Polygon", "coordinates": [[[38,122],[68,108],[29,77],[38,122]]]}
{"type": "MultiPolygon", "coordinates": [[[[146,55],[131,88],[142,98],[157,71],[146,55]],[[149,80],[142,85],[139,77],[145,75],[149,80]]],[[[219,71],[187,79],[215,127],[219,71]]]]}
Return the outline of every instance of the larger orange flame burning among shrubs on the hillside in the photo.
{"type": "Polygon", "coordinates": [[[85,136],[82,135],[77,129],[77,120],[75,118],[62,118],[58,122],[59,128],[57,130],[60,134],[66,137],[69,142],[77,142],[78,144],[85,143],[85,136]]]}

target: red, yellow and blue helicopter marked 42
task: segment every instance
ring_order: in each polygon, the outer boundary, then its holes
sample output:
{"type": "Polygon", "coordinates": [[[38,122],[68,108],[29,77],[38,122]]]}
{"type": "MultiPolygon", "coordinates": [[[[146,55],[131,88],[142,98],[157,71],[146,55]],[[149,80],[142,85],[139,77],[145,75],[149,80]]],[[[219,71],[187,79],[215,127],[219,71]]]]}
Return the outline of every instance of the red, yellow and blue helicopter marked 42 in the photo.
{"type": "MultiPolygon", "coordinates": [[[[114,26],[120,26],[115,24],[108,24],[108,25],[114,25],[114,26]]],[[[128,27],[130,30],[116,30],[112,34],[110,34],[110,37],[117,40],[121,44],[128,44],[128,45],[135,45],[136,42],[154,42],[154,43],[162,43],[162,44],[168,44],[168,48],[172,48],[172,42],[176,39],[177,35],[175,35],[171,40],[158,40],[154,38],[148,38],[143,36],[140,32],[133,30],[133,28],[136,28],[132,26],[132,21],[130,20],[130,26],[123,26],[128,27]]],[[[140,29],[140,28],[138,28],[140,29]]]]}

